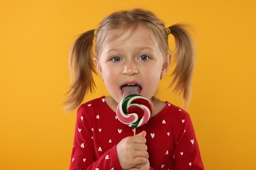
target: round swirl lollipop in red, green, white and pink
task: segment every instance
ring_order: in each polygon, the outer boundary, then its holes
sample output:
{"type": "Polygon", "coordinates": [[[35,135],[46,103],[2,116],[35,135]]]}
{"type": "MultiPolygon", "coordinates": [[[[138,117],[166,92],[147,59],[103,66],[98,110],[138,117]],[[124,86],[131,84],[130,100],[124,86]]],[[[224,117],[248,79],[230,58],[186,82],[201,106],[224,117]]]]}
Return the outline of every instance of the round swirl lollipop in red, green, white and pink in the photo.
{"type": "MultiPolygon", "coordinates": [[[[120,122],[129,127],[139,127],[150,119],[152,106],[142,95],[132,94],[123,98],[117,106],[116,116],[120,122]]],[[[136,133],[134,131],[134,133],[136,133]]]]}

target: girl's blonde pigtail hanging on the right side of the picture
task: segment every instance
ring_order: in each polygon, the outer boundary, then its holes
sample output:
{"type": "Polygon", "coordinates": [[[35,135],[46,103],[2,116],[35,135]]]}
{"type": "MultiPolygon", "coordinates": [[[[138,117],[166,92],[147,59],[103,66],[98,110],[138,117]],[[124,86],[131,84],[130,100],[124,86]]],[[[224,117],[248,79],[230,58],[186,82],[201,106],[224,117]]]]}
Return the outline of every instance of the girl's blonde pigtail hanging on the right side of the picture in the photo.
{"type": "Polygon", "coordinates": [[[170,86],[175,84],[174,92],[181,94],[183,105],[188,109],[192,93],[192,75],[196,57],[196,49],[188,25],[175,24],[169,27],[169,31],[175,38],[176,67],[172,73],[173,80],[170,86]]]}

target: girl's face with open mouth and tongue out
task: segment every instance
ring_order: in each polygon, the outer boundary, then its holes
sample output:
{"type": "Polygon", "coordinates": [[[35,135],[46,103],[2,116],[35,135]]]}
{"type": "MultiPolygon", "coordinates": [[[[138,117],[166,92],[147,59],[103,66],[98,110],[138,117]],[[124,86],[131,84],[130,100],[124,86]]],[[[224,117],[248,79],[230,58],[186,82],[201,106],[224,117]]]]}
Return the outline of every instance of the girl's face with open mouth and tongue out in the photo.
{"type": "Polygon", "coordinates": [[[161,75],[169,69],[169,58],[160,52],[152,33],[140,26],[108,35],[95,63],[108,92],[119,103],[130,93],[152,99],[161,75]]]}

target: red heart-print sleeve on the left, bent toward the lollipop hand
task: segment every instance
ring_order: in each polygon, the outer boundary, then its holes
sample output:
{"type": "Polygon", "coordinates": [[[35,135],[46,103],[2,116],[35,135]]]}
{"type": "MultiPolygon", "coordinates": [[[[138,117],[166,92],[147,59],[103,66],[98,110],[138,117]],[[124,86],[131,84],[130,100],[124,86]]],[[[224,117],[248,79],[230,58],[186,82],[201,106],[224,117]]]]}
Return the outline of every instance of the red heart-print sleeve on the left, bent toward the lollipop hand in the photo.
{"type": "Polygon", "coordinates": [[[117,158],[116,145],[96,159],[93,139],[93,120],[83,106],[77,111],[74,146],[70,170],[77,169],[121,169],[117,158]]]}

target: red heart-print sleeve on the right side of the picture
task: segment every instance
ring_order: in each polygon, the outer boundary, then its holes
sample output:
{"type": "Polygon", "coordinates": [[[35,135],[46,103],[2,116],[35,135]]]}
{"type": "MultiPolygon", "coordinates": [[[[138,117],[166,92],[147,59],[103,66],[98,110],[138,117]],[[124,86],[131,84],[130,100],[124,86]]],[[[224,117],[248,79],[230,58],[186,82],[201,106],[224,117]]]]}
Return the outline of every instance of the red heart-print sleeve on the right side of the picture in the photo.
{"type": "Polygon", "coordinates": [[[204,169],[202,158],[194,127],[188,113],[182,114],[179,120],[175,121],[174,126],[177,133],[174,133],[176,147],[174,152],[175,169],[204,169]]]}

